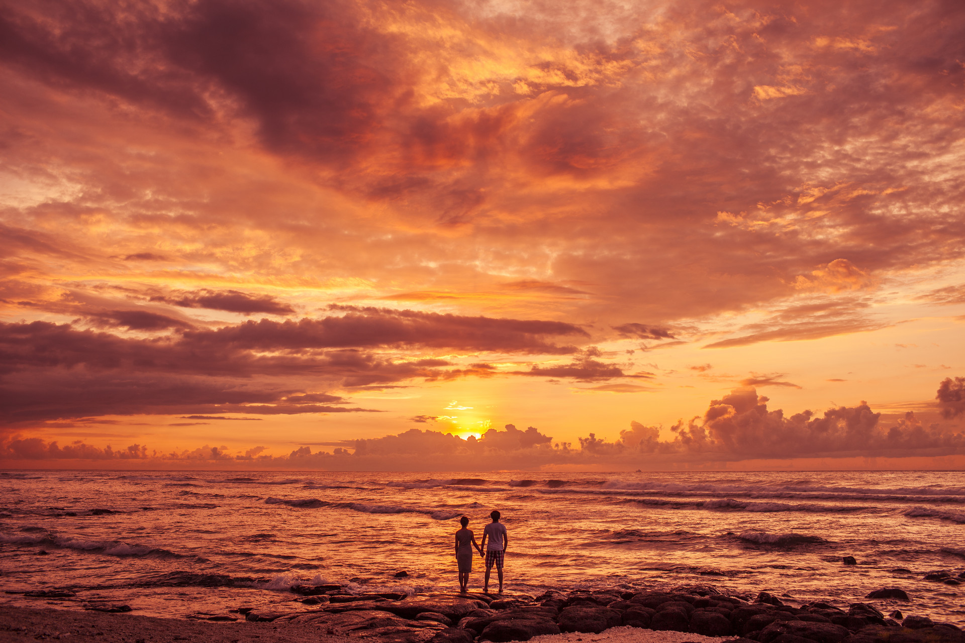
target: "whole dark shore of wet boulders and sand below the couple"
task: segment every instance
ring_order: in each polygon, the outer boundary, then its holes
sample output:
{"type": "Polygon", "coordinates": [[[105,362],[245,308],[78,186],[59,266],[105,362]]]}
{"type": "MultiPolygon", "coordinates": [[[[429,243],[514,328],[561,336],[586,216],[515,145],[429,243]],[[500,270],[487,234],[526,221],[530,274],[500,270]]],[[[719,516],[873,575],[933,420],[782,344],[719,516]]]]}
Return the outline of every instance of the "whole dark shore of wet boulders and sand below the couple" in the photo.
{"type": "MultiPolygon", "coordinates": [[[[546,641],[545,636],[572,632],[668,643],[706,640],[703,637],[724,643],[965,643],[958,627],[911,613],[914,603],[897,588],[872,592],[869,603],[847,608],[824,602],[793,606],[763,592],[757,597],[727,596],[706,585],[506,597],[349,594],[339,585],[295,585],[291,592],[293,600],[283,603],[290,608],[277,603],[270,608],[238,607],[223,614],[198,614],[192,621],[120,613],[126,611],[124,605],[102,605],[93,612],[8,607],[2,610],[0,638],[64,640],[84,635],[109,643],[227,643],[347,637],[373,643],[503,643],[534,637],[546,641]],[[897,605],[909,613],[894,609],[897,605]]],[[[571,635],[565,638],[573,640],[571,635]]]]}

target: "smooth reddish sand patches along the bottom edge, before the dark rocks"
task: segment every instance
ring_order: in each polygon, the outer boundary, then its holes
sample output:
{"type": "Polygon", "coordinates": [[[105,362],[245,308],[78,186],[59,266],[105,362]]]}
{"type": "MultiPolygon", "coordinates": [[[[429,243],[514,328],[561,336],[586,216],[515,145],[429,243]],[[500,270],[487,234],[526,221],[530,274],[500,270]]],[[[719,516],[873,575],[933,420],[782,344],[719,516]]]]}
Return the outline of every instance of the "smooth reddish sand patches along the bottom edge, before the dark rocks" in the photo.
{"type": "MultiPolygon", "coordinates": [[[[297,624],[245,621],[207,623],[134,614],[0,606],[0,641],[33,643],[38,640],[83,643],[345,643],[365,639],[354,636],[327,636],[320,633],[317,627],[297,624]]],[[[534,643],[720,643],[721,640],[700,634],[627,627],[613,628],[602,634],[569,633],[537,636],[532,639],[534,643]]]]}

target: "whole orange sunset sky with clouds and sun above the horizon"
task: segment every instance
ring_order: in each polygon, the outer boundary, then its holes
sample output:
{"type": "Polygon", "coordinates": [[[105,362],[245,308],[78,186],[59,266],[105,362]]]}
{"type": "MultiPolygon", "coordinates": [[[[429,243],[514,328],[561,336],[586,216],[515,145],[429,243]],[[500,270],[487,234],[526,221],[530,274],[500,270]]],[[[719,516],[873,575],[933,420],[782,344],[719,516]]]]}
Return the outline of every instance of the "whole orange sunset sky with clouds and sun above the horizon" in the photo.
{"type": "Polygon", "coordinates": [[[14,0],[0,465],[965,467],[965,6],[14,0]]]}

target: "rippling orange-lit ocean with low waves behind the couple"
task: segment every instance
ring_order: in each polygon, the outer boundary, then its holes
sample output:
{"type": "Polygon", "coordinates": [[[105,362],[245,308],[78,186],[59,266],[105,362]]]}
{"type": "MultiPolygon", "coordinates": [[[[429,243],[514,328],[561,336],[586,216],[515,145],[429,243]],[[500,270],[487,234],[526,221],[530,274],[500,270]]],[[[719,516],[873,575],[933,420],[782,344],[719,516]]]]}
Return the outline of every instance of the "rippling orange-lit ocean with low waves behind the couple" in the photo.
{"type": "MultiPolygon", "coordinates": [[[[508,592],[703,584],[846,605],[899,587],[913,599],[899,609],[965,626],[963,471],[9,470],[0,490],[11,604],[184,618],[290,606],[306,582],[454,592],[459,517],[482,540],[498,509],[508,592]],[[925,579],[936,572],[951,577],[925,579]],[[75,596],[23,594],[49,589],[75,596]]],[[[470,589],[482,584],[477,558],[470,589]]]]}

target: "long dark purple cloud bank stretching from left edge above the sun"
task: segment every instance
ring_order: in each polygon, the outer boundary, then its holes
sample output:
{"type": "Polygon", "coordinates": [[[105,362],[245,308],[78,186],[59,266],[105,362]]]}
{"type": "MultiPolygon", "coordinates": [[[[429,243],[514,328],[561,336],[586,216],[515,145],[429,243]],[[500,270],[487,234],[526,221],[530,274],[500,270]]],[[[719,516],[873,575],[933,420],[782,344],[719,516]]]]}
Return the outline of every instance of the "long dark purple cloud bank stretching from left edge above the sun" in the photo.
{"type": "MultiPolygon", "coordinates": [[[[139,413],[370,411],[333,406],[343,398],[292,390],[291,384],[277,380],[313,378],[328,387],[364,387],[412,378],[488,376],[493,367],[485,363],[447,370],[447,360],[395,362],[364,349],[416,345],[568,353],[575,349],[548,344],[545,336],[585,335],[560,322],[377,308],[352,308],[342,317],[298,322],[262,319],[214,331],[184,330],[176,320],[145,311],[104,313],[100,321],[142,331],[173,326],[179,332],[146,339],[50,322],[0,325],[3,423],[139,413]]],[[[598,379],[621,374],[593,360],[568,368],[568,375],[561,371],[561,376],[598,379]]]]}

